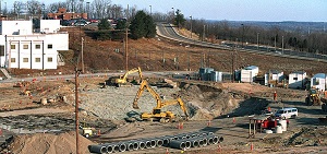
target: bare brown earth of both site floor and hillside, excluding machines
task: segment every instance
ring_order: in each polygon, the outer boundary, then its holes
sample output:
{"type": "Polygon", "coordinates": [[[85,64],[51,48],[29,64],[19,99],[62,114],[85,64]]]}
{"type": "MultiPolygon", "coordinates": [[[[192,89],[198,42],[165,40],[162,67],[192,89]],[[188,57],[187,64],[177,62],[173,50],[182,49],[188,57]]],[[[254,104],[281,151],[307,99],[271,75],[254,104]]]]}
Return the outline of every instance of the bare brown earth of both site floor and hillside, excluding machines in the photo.
{"type": "MultiPolygon", "coordinates": [[[[70,32],[72,33],[72,32],[70,32]]],[[[80,36],[85,37],[85,57],[87,73],[95,70],[124,70],[124,51],[121,42],[93,40],[84,33],[74,32],[70,39],[71,46],[78,49],[80,36]],[[114,52],[120,48],[120,52],[114,52]],[[101,60],[101,62],[99,62],[101,60]]],[[[231,52],[228,50],[185,48],[178,43],[162,39],[129,40],[130,68],[141,67],[145,71],[197,70],[211,67],[219,71],[230,71],[231,52]],[[164,54],[164,56],[162,56],[164,54]],[[190,62],[189,62],[190,55],[190,62]],[[165,58],[165,62],[162,62],[165,58]],[[178,59],[178,61],[177,61],[178,59]],[[201,62],[203,61],[203,62],[201,62]],[[190,63],[190,64],[189,64],[190,63]]],[[[74,52],[64,54],[71,60],[74,52]]],[[[246,64],[258,66],[262,72],[277,69],[286,72],[304,70],[308,74],[324,72],[327,67],[323,62],[303,61],[279,57],[268,57],[255,54],[238,52],[235,68],[246,64]]],[[[71,74],[72,64],[69,62],[56,71],[46,71],[47,75],[71,74]]],[[[40,75],[40,71],[12,70],[21,76],[40,75]],[[29,75],[27,75],[29,74],[29,75]]],[[[45,71],[43,72],[45,73],[45,71]]],[[[104,81],[109,76],[81,78],[80,121],[84,125],[101,130],[99,138],[87,140],[81,137],[83,153],[87,145],[116,142],[136,138],[158,137],[198,130],[213,131],[225,138],[218,145],[201,149],[191,149],[184,153],[324,153],[327,151],[326,126],[319,125],[319,117],[326,112],[319,106],[304,106],[305,91],[270,88],[258,84],[246,83],[213,83],[203,81],[179,81],[178,88],[154,87],[156,92],[170,98],[171,94],[181,95],[186,103],[191,120],[184,122],[184,129],[177,129],[178,123],[149,123],[137,121],[126,123],[124,118],[130,111],[140,114],[150,111],[155,106],[154,98],[145,93],[140,99],[140,110],[132,109],[132,103],[138,86],[117,88],[108,86],[101,88],[104,81]],[[274,103],[272,92],[278,93],[278,103],[274,103]],[[247,116],[261,114],[268,106],[272,110],[281,107],[298,107],[299,117],[291,119],[288,131],[282,134],[257,133],[249,139],[247,116]],[[235,122],[233,122],[233,118],[235,122]],[[208,121],[210,120],[210,126],[208,121]],[[254,150],[251,151],[251,143],[254,150]]],[[[169,76],[167,76],[169,78],[169,76]]],[[[10,146],[1,147],[1,153],[74,153],[74,81],[58,78],[28,81],[31,84],[23,87],[13,87],[14,83],[0,84],[0,114],[7,117],[0,119],[2,129],[16,132],[10,146]],[[32,95],[26,95],[26,91],[32,95]],[[48,98],[46,105],[41,98],[48,98]],[[53,102],[56,100],[56,102],[53,102]],[[47,108],[49,110],[43,109],[47,108]],[[37,109],[34,115],[13,116],[23,109],[37,109]],[[51,111],[53,109],[53,111],[51,111]],[[63,112],[62,112],[63,111],[63,112]],[[25,134],[28,133],[28,134],[25,134]],[[29,134],[31,133],[31,134],[29,134]],[[39,141],[39,142],[38,142],[39,141]]],[[[182,115],[179,106],[170,106],[178,115],[182,115]]],[[[166,153],[166,147],[135,151],[126,153],[166,153]]],[[[170,153],[181,153],[180,150],[168,149],[170,153]]]]}

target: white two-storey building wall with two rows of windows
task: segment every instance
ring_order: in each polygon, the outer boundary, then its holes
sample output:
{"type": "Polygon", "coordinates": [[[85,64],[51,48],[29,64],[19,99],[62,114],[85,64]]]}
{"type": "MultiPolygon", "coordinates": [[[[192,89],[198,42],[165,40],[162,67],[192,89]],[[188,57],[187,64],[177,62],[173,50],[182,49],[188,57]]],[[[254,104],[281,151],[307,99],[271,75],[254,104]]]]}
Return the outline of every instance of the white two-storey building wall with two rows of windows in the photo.
{"type": "Polygon", "coordinates": [[[58,50],[69,49],[68,37],[68,34],[7,36],[5,43],[2,35],[0,43],[7,55],[0,63],[19,69],[57,69],[58,50]]]}

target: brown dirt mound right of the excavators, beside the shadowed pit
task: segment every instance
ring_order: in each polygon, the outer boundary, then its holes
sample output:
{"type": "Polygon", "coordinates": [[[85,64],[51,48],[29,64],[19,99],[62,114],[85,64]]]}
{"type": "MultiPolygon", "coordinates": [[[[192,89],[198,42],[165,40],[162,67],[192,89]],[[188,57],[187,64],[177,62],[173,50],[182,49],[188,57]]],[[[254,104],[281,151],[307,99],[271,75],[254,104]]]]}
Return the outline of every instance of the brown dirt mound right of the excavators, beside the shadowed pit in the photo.
{"type": "Polygon", "coordinates": [[[235,98],[225,88],[203,84],[181,84],[180,95],[189,102],[192,120],[213,119],[239,106],[242,98],[235,98]]]}

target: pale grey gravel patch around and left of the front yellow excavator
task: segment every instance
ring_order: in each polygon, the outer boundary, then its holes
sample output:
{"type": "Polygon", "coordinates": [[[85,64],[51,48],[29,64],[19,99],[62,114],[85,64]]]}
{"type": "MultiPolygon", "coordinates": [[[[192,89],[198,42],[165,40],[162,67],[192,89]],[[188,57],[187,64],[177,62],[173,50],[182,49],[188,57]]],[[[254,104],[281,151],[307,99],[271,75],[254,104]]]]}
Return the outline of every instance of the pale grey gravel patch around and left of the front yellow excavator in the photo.
{"type": "MultiPolygon", "coordinates": [[[[80,107],[87,110],[99,118],[122,120],[128,114],[149,112],[156,106],[156,99],[145,91],[138,99],[140,109],[133,109],[132,104],[136,96],[140,85],[132,87],[114,87],[93,88],[81,93],[80,107]]],[[[165,95],[166,99],[172,99],[171,95],[177,93],[179,88],[153,88],[160,95],[165,95]]],[[[164,107],[162,110],[172,110],[177,115],[182,115],[179,105],[164,107]]]]}

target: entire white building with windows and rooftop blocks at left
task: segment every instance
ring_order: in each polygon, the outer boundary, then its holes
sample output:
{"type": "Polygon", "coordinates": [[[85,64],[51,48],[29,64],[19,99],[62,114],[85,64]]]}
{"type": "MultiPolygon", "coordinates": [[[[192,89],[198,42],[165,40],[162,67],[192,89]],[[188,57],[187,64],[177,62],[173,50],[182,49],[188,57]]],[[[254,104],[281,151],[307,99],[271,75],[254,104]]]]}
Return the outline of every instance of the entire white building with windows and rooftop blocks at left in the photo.
{"type": "Polygon", "coordinates": [[[58,21],[41,20],[40,29],[49,29],[43,34],[33,33],[32,21],[0,21],[0,67],[57,69],[58,50],[69,49],[69,34],[57,32],[58,21]]]}

